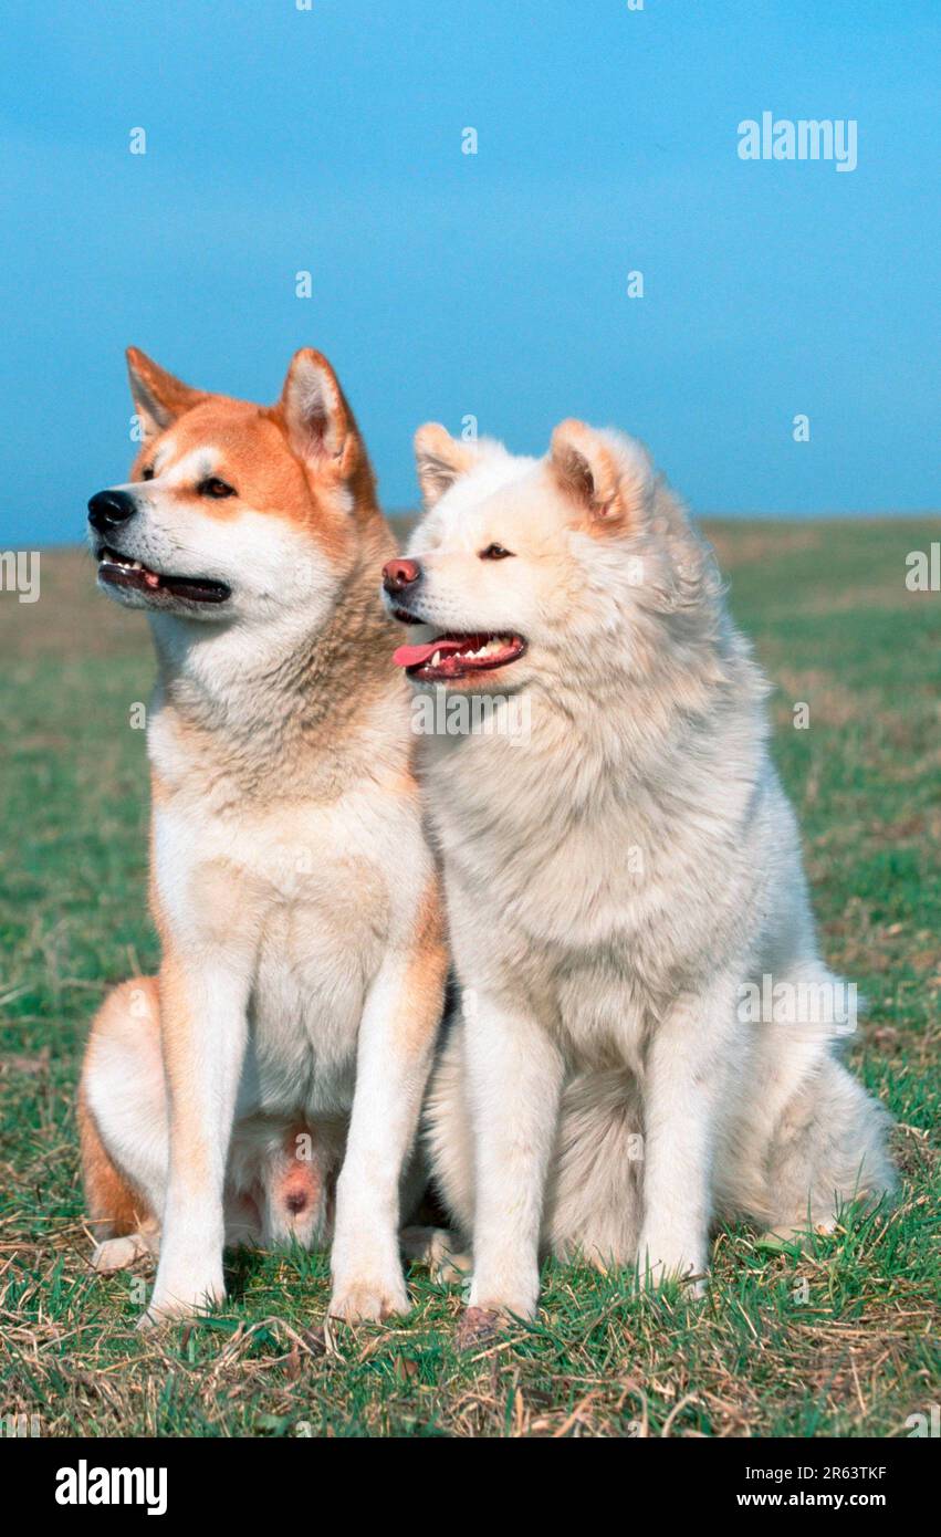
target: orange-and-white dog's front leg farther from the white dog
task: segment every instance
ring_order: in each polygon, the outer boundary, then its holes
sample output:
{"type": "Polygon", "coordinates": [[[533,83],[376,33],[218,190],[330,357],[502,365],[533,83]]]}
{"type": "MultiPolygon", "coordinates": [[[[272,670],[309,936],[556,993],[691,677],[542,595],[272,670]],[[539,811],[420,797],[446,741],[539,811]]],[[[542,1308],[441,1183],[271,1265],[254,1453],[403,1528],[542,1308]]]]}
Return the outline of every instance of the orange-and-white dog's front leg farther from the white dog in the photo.
{"type": "Polygon", "coordinates": [[[165,947],[160,1025],[169,1177],[154,1294],[143,1322],[224,1297],[223,1185],[248,1039],[249,970],[229,953],[165,947]]]}

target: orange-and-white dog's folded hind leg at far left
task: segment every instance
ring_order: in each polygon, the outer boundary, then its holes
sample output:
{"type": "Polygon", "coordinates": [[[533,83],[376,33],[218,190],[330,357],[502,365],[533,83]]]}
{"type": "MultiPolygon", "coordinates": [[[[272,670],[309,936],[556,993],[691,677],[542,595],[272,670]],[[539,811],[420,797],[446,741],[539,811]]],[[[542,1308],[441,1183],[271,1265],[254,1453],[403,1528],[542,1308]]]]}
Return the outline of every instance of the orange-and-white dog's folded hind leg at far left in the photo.
{"type": "Polygon", "coordinates": [[[166,1091],[155,978],[123,982],[92,1024],[78,1130],[95,1270],[108,1274],[160,1247],[166,1188],[166,1091]]]}

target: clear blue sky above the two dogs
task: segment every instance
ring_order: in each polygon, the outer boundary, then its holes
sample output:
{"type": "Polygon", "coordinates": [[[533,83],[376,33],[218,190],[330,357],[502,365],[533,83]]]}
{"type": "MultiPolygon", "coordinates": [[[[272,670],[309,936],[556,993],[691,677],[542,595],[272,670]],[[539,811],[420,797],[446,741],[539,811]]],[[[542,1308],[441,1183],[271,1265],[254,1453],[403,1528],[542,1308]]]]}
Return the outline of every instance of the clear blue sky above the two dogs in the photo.
{"type": "Polygon", "coordinates": [[[80,538],[89,493],[125,476],[128,343],[252,400],[320,347],[387,507],[415,498],[415,426],[466,415],[537,453],[563,417],[623,426],[700,512],[936,506],[936,18],[929,0],[17,6],[0,544],[80,538]],[[855,118],[858,168],[740,160],[763,111],[855,118]]]}

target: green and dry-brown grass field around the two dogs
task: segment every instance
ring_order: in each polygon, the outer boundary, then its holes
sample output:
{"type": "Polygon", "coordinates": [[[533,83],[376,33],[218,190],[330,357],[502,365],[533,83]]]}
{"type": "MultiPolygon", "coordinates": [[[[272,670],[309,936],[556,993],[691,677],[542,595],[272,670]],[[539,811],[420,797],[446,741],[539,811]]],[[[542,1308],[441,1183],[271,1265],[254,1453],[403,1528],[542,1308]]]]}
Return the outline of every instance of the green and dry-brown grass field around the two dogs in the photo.
{"type": "Polygon", "coordinates": [[[78,552],[0,593],[0,1417],[43,1436],[907,1436],[941,1399],[941,593],[936,521],[713,524],[775,681],[827,961],[870,1001],[850,1061],[892,1110],[903,1200],[813,1251],[721,1231],[707,1299],[547,1266],[530,1328],[461,1356],[412,1273],[394,1328],[324,1326],[328,1262],[231,1256],[198,1326],[134,1331],[146,1273],[88,1268],[74,1085],[106,988],[157,965],[145,908],[146,626],[78,552]],[[793,727],[795,702],[810,707],[793,727]]]}

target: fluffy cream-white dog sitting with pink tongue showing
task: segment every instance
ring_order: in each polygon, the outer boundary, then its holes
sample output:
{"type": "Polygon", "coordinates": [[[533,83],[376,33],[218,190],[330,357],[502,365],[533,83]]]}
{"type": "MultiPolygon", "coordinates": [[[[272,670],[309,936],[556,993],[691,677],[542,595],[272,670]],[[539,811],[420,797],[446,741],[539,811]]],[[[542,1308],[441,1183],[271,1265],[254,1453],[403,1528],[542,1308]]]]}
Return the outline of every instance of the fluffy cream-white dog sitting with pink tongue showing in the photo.
{"type": "Polygon", "coordinates": [[[494,696],[424,759],[464,991],[429,1136],[470,1306],[530,1316],[540,1247],[701,1277],[718,1214],[832,1225],[893,1187],[887,1114],[836,1059],[843,984],[709,550],[617,432],[563,423],[535,461],[426,426],[417,453],[397,661],[494,696]]]}

